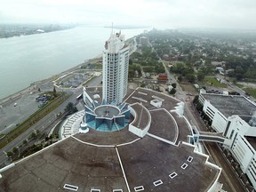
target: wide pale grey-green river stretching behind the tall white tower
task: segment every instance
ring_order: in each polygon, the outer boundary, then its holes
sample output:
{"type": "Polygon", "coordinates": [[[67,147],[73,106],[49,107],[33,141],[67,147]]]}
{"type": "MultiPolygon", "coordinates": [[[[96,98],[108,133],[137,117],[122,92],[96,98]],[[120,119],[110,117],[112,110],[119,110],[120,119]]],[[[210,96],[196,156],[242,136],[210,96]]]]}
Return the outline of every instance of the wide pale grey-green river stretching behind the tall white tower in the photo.
{"type": "MultiPolygon", "coordinates": [[[[143,30],[122,29],[122,34],[128,39],[143,30]]],[[[0,99],[98,56],[110,32],[110,28],[79,27],[1,38],[0,99]]]]}

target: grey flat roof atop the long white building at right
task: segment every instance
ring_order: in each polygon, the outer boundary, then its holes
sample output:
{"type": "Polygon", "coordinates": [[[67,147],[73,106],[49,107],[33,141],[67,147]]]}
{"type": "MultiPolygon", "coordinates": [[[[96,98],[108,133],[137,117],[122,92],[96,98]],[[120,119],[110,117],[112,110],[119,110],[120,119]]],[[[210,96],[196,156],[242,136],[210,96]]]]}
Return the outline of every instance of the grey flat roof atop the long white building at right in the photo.
{"type": "Polygon", "coordinates": [[[253,112],[256,111],[256,105],[244,96],[207,93],[202,93],[202,95],[227,118],[234,115],[252,116],[253,112]]]}

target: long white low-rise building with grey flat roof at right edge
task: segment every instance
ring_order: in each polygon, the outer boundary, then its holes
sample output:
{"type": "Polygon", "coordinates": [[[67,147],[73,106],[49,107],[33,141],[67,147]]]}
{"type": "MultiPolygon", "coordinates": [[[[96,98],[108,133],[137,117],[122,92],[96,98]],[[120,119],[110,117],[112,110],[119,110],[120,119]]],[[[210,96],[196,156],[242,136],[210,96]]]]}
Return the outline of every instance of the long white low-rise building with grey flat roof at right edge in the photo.
{"type": "Polygon", "coordinates": [[[256,105],[244,96],[200,94],[212,128],[226,138],[226,147],[256,188],[256,105]]]}

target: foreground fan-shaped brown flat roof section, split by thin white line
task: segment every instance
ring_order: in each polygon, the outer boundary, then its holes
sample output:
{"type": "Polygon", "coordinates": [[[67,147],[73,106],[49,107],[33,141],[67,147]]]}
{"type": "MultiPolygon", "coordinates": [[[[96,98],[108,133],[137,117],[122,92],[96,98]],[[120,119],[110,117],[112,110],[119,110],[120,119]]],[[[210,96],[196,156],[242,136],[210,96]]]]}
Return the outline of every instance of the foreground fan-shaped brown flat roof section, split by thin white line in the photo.
{"type": "MultiPolygon", "coordinates": [[[[93,133],[97,137],[99,132],[93,133]]],[[[80,140],[75,137],[61,140],[2,172],[0,191],[68,191],[63,187],[69,184],[83,192],[92,188],[127,192],[128,188],[135,191],[141,186],[144,191],[200,192],[207,191],[220,173],[205,164],[204,156],[184,144],[177,147],[145,136],[116,147],[92,146],[93,143],[81,141],[86,134],[78,136],[80,140]],[[186,168],[181,168],[182,165],[186,168]],[[173,172],[177,175],[171,178],[173,172]],[[157,180],[162,184],[155,186],[157,180]]]]}

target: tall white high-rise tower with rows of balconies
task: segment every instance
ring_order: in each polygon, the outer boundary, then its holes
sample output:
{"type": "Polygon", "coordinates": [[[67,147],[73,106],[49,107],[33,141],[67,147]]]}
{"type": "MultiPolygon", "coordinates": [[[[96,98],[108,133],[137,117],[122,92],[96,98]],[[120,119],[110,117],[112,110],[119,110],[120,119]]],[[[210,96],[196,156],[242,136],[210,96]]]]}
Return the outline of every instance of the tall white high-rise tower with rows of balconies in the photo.
{"type": "Polygon", "coordinates": [[[112,33],[103,51],[102,99],[120,104],[128,89],[129,46],[124,35],[112,33]]]}

